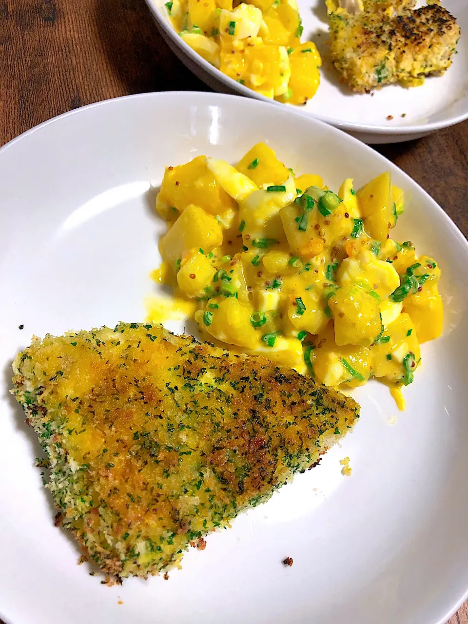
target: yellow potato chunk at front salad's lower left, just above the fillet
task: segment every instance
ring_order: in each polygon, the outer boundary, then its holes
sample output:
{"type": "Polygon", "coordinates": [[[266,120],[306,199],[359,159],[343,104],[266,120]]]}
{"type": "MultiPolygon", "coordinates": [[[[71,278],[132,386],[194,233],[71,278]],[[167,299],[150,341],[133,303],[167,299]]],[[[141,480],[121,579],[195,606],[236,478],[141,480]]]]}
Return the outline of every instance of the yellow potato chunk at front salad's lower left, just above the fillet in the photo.
{"type": "MultiPolygon", "coordinates": [[[[213,300],[214,301],[214,300],[213,300]]],[[[203,324],[203,329],[223,343],[236,344],[239,347],[255,348],[258,345],[260,334],[255,331],[250,323],[250,316],[253,310],[250,306],[240,303],[235,297],[227,299],[216,299],[217,310],[209,310],[211,316],[203,321],[202,310],[195,314],[197,323],[203,324]]],[[[208,312],[208,310],[207,310],[208,312]]]]}

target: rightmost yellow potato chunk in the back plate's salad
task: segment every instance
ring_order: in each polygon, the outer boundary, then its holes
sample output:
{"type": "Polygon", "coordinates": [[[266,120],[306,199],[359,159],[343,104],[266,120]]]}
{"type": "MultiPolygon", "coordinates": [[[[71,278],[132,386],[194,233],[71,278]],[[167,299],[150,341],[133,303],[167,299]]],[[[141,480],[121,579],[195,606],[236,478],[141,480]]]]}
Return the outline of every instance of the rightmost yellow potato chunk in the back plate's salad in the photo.
{"type": "Polygon", "coordinates": [[[320,84],[322,59],[315,44],[306,41],[294,47],[289,54],[291,78],[289,81],[290,104],[306,104],[316,94],[320,84]]]}

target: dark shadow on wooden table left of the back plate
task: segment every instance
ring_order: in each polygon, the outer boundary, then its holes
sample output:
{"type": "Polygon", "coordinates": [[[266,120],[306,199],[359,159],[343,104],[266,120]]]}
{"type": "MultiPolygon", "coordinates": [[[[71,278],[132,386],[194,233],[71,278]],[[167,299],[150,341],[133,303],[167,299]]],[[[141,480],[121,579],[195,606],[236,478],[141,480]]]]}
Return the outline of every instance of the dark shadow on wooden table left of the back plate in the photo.
{"type": "Polygon", "coordinates": [[[95,0],[94,6],[110,69],[129,94],[210,90],[170,51],[143,0],[95,0]]]}

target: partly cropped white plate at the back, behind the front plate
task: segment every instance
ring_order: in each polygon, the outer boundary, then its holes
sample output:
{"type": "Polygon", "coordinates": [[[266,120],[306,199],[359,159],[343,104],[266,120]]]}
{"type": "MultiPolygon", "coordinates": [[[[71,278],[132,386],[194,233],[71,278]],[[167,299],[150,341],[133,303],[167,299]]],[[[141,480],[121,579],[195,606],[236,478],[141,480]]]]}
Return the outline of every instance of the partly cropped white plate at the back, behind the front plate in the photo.
{"type": "MultiPolygon", "coordinates": [[[[170,24],[165,0],[146,0],[168,46],[196,76],[224,93],[246,95],[271,102],[202,59],[170,24]]],[[[457,18],[462,36],[452,67],[441,77],[426,80],[422,87],[404,89],[389,85],[371,94],[355,94],[339,77],[328,58],[328,21],[324,0],[297,0],[303,19],[303,41],[314,41],[323,57],[321,85],[305,107],[287,105],[288,110],[308,114],[358,137],[369,144],[418,139],[435,130],[468,118],[468,2],[444,0],[457,18]],[[392,120],[387,117],[391,115],[392,120]],[[405,115],[405,117],[402,117],[405,115]]],[[[421,4],[421,2],[419,2],[421,4]]],[[[283,105],[283,104],[281,104],[283,105]]],[[[284,105],[283,105],[284,106],[284,105]]]]}

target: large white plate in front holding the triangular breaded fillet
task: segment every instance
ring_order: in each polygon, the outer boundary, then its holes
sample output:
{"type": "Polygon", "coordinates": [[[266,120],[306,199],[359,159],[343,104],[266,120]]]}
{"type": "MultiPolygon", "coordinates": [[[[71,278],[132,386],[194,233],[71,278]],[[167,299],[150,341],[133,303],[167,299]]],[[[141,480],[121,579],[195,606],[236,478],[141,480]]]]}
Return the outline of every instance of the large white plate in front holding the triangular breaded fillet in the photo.
{"type": "Polygon", "coordinates": [[[110,100],[0,150],[0,616],[9,624],[444,623],[468,588],[468,245],[404,173],[357,140],[286,108],[207,93],[110,100]],[[238,122],[242,119],[242,123],[238,122]],[[198,154],[235,162],[265,140],[331,188],[391,170],[407,196],[402,240],[442,268],[444,335],[397,414],[388,390],[356,392],[343,447],[265,505],[190,549],[182,570],[107,588],[53,525],[41,450],[7,394],[32,334],[141,321],[155,291],[164,166],[198,154]],[[311,145],[314,149],[311,149],[311,145]],[[22,331],[19,324],[24,323],[22,331]],[[391,417],[397,423],[389,426],[391,417]],[[351,458],[343,477],[339,460],[351,458]],[[292,557],[285,568],[281,560],[292,557]],[[121,600],[122,605],[118,603],[121,600]]]}

